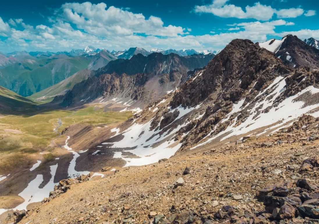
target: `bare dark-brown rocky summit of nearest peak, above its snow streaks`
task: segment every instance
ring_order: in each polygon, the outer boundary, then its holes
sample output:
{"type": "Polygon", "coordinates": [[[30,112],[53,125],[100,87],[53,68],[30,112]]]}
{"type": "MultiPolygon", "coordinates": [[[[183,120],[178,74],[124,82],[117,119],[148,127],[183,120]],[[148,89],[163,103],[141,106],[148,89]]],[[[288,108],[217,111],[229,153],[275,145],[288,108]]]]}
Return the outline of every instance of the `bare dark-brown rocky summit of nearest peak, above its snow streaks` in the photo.
{"type": "Polygon", "coordinates": [[[190,79],[182,90],[175,93],[170,106],[194,107],[207,98],[235,102],[253,81],[256,82],[254,88],[259,90],[265,82],[290,71],[272,52],[250,40],[235,39],[208,63],[196,79],[190,79]]]}

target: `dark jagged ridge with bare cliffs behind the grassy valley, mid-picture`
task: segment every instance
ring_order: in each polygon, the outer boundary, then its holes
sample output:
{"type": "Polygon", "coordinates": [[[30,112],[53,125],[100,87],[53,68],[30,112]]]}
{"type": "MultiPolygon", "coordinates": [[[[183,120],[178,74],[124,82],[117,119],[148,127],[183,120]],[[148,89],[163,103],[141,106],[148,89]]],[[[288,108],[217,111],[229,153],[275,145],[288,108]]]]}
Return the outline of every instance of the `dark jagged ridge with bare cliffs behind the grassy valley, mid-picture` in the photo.
{"type": "MultiPolygon", "coordinates": [[[[75,85],[66,93],[62,105],[113,103],[116,101],[114,99],[118,99],[115,103],[122,104],[112,110],[124,109],[133,104],[143,108],[145,104],[181,86],[195,74],[195,69],[203,68],[213,57],[213,54],[180,57],[176,54],[153,53],[147,57],[137,54],[130,60],[110,61],[107,66],[96,71],[95,77],[75,85]],[[129,101],[129,105],[125,104],[129,101]]],[[[61,97],[55,101],[58,100],[61,97]]]]}

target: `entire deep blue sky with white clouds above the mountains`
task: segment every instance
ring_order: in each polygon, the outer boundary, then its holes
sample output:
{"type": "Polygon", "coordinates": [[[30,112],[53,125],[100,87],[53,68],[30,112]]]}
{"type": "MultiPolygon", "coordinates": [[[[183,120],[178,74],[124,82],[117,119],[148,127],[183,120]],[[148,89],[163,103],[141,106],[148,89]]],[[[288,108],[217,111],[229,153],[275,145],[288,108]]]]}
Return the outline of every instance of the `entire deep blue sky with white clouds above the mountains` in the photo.
{"type": "Polygon", "coordinates": [[[93,45],[218,50],[232,39],[294,34],[319,39],[313,0],[7,1],[0,51],[63,51],[93,45]]]}

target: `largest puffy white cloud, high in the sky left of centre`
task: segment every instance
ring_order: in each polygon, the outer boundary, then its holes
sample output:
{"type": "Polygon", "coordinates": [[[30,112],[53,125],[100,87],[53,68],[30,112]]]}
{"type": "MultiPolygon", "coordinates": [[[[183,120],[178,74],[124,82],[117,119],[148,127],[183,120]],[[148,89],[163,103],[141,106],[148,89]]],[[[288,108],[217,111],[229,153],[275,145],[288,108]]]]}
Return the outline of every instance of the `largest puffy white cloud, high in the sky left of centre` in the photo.
{"type": "Polygon", "coordinates": [[[187,34],[182,27],[164,26],[155,16],[148,19],[141,13],[110,6],[105,3],[66,3],[62,5],[63,19],[77,25],[79,29],[97,36],[146,34],[156,36],[178,36],[187,34]]]}

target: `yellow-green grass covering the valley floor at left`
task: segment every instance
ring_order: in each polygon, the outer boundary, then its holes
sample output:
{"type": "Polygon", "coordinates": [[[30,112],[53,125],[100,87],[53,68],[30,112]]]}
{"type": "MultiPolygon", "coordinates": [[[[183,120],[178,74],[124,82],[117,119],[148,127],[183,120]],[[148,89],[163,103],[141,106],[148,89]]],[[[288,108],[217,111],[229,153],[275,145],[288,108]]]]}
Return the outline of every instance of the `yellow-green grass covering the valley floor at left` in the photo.
{"type": "MultiPolygon", "coordinates": [[[[30,105],[35,104],[28,103],[27,108],[30,105]]],[[[44,153],[43,158],[46,161],[54,160],[57,154],[54,153],[55,146],[52,146],[51,142],[71,124],[111,124],[125,121],[131,116],[130,111],[103,112],[102,109],[95,110],[94,106],[89,106],[77,111],[49,109],[37,111],[33,108],[30,113],[2,117],[0,118],[0,174],[30,166],[30,161],[33,159],[31,156],[39,152],[50,152],[44,153]],[[54,129],[58,126],[59,118],[62,120],[62,126],[56,132],[54,129]]]]}

